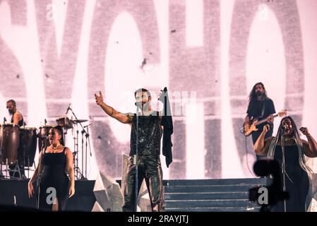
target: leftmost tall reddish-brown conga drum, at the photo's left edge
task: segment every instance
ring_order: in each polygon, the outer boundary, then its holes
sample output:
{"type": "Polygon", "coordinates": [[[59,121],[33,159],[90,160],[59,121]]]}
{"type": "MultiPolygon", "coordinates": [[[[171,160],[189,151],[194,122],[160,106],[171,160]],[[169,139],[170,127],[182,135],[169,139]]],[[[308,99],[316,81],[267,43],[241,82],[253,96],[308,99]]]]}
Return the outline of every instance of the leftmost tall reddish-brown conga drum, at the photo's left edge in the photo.
{"type": "Polygon", "coordinates": [[[16,124],[2,124],[0,129],[1,163],[15,165],[18,157],[20,131],[16,124]]]}

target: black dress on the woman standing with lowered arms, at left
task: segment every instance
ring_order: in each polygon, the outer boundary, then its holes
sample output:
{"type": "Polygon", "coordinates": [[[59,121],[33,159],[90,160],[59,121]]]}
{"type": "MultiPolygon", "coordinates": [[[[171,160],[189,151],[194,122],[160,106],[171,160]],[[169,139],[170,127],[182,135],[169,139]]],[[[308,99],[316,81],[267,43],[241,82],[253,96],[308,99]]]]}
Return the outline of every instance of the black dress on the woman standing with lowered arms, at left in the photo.
{"type": "Polygon", "coordinates": [[[52,196],[56,191],[59,210],[64,210],[68,199],[69,179],[65,173],[65,148],[61,153],[46,153],[42,158],[43,170],[40,175],[40,210],[52,210],[52,196]]]}

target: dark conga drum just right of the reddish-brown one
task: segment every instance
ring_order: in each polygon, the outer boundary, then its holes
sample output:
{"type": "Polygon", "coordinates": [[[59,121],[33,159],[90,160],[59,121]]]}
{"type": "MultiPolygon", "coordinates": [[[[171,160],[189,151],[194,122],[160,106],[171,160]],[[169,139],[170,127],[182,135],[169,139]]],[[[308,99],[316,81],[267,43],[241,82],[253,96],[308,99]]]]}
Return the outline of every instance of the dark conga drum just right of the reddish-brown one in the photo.
{"type": "Polygon", "coordinates": [[[24,167],[32,167],[37,148],[37,129],[35,127],[20,127],[20,145],[18,159],[24,167]]]}

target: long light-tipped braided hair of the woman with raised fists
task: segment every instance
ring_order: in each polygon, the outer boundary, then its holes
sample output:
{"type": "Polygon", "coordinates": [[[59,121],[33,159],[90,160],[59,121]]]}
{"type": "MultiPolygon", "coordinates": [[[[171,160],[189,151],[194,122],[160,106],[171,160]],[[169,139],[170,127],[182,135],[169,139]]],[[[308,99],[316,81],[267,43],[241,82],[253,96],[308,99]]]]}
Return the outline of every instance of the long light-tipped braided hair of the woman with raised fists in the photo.
{"type": "Polygon", "coordinates": [[[305,156],[304,156],[304,151],[303,151],[303,142],[301,142],[301,138],[299,137],[299,132],[297,130],[297,126],[294,122],[294,120],[292,119],[292,117],[284,117],[281,122],[280,122],[280,126],[278,127],[277,130],[277,135],[275,136],[275,138],[273,138],[272,143],[270,144],[270,148],[268,148],[268,158],[273,159],[274,158],[274,154],[275,154],[275,148],[277,145],[278,141],[282,141],[282,121],[284,121],[285,119],[289,119],[292,123],[292,133],[291,136],[292,138],[294,138],[294,141],[297,145],[297,150],[299,152],[299,166],[301,167],[301,169],[304,169],[307,173],[313,174],[313,171],[311,170],[311,168],[306,165],[306,160],[305,160],[305,156]]]}

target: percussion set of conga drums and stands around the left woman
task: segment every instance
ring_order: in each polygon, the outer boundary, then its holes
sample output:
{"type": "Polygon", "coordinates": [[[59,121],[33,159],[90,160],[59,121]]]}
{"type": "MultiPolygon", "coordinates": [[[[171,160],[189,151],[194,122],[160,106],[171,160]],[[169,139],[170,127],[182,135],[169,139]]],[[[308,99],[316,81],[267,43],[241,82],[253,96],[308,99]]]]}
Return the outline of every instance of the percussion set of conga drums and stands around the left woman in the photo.
{"type": "MultiPolygon", "coordinates": [[[[35,164],[34,159],[37,147],[39,151],[42,150],[42,148],[47,147],[49,145],[49,130],[54,128],[54,126],[61,126],[64,131],[63,136],[65,136],[68,129],[74,129],[74,127],[77,128],[77,133],[74,135],[77,137],[73,138],[75,141],[75,148],[73,151],[75,157],[74,164],[77,179],[79,178],[78,174],[83,178],[83,174],[78,167],[78,124],[82,126],[81,123],[85,121],[88,120],[77,118],[72,120],[68,119],[68,117],[59,117],[56,119],[56,125],[48,125],[46,124],[45,119],[45,124],[40,126],[39,129],[29,126],[19,127],[12,123],[0,124],[0,176],[4,177],[4,174],[2,173],[4,170],[2,168],[6,165],[5,171],[17,171],[19,172],[18,178],[25,178],[25,175],[20,174],[20,172],[24,172],[24,169],[30,170],[30,167],[35,164]],[[20,170],[21,168],[23,168],[23,170],[20,170]]],[[[84,127],[88,128],[88,126],[82,127],[83,129],[84,127]]],[[[11,176],[11,178],[16,177],[11,176]]]]}

